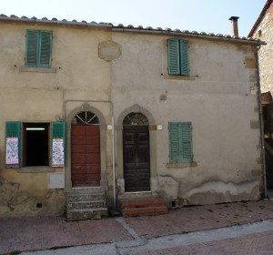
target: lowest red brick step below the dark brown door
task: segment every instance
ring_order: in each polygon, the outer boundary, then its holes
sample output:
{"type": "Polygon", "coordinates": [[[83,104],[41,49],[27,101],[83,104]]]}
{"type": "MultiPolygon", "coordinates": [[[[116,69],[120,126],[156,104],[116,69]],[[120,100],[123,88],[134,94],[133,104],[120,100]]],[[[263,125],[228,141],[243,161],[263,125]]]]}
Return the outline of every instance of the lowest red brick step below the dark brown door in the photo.
{"type": "Polygon", "coordinates": [[[156,207],[143,207],[143,208],[124,208],[122,209],[123,217],[136,217],[136,216],[149,216],[149,215],[160,215],[166,214],[166,206],[156,206],[156,207]]]}

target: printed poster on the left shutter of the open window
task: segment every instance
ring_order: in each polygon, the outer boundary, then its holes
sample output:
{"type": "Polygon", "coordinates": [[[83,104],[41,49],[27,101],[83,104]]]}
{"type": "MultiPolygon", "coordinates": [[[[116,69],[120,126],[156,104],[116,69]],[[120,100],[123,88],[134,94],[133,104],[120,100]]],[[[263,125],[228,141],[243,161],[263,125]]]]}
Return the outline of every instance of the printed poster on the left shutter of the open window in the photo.
{"type": "Polygon", "coordinates": [[[5,144],[5,166],[19,166],[19,139],[6,138],[5,144]]]}

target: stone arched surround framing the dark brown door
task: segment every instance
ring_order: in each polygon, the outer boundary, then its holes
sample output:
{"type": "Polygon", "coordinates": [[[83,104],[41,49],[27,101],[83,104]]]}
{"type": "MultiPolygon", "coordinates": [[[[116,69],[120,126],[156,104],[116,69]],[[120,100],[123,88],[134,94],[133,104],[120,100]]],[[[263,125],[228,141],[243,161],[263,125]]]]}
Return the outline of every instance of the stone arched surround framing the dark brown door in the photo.
{"type": "Polygon", "coordinates": [[[157,126],[153,115],[144,107],[134,105],[127,107],[116,119],[116,176],[118,195],[125,193],[124,166],[123,166],[123,121],[130,113],[141,113],[148,120],[150,130],[150,189],[152,193],[157,193],[157,126]]]}

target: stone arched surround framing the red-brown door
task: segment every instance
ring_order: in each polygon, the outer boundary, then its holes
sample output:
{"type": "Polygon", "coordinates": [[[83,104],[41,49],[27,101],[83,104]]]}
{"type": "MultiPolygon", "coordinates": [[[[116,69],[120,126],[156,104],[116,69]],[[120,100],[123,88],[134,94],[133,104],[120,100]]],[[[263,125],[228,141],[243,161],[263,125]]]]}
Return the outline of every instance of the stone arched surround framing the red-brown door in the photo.
{"type": "Polygon", "coordinates": [[[96,107],[92,107],[89,104],[84,103],[81,107],[76,107],[66,117],[66,191],[71,191],[71,126],[74,117],[81,112],[91,112],[98,118],[99,132],[100,132],[100,162],[101,162],[101,179],[100,187],[101,190],[108,189],[106,181],[106,118],[100,110],[96,107]]]}

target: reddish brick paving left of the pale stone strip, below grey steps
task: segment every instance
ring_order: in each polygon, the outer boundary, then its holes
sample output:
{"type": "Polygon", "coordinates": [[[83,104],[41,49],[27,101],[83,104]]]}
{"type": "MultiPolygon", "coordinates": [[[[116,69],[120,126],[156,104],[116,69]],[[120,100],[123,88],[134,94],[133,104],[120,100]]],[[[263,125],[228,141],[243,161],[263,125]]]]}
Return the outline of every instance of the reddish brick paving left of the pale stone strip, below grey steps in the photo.
{"type": "Polygon", "coordinates": [[[0,254],[132,239],[116,219],[0,218],[0,254]]]}

